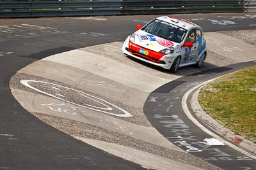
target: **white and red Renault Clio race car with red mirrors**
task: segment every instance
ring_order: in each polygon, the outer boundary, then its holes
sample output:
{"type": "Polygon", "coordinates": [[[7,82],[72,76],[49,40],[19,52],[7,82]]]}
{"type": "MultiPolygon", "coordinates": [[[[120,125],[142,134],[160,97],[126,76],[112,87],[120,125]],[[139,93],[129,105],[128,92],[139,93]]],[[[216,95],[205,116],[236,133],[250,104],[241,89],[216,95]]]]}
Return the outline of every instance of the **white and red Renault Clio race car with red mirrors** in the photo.
{"type": "Polygon", "coordinates": [[[175,73],[179,67],[202,66],[206,41],[202,28],[173,17],[158,17],[128,36],[122,47],[125,55],[175,73]]]}

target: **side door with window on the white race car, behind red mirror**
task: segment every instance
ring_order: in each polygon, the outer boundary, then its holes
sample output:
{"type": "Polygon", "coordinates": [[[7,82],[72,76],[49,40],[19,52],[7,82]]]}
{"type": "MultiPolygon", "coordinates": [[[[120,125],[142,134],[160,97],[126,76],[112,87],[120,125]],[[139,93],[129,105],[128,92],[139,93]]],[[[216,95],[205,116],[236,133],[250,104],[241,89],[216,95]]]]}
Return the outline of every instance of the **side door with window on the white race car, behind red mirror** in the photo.
{"type": "Polygon", "coordinates": [[[196,29],[192,29],[189,31],[188,36],[186,37],[185,43],[192,43],[193,46],[191,48],[189,47],[183,47],[185,48],[185,54],[182,59],[183,64],[187,64],[189,62],[196,62],[196,59],[198,58],[198,38],[196,37],[196,29]]]}

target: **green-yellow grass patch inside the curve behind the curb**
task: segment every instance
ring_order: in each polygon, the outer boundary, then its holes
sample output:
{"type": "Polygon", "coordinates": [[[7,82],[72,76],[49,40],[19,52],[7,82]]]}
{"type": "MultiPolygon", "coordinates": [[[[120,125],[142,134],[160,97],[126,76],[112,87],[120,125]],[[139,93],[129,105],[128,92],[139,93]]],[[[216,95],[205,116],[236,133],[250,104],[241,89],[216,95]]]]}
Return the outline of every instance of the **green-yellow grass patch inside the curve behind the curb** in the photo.
{"type": "Polygon", "coordinates": [[[256,143],[256,66],[209,83],[198,101],[220,124],[256,143]]]}

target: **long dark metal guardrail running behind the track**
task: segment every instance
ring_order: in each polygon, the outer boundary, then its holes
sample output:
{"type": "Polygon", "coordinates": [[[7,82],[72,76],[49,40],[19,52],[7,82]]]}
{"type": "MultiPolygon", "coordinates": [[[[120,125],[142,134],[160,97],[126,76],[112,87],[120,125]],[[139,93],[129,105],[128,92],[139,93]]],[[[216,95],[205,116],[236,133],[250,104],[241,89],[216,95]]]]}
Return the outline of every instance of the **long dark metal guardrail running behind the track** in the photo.
{"type": "Polygon", "coordinates": [[[244,12],[256,0],[3,1],[0,18],[244,12]]]}

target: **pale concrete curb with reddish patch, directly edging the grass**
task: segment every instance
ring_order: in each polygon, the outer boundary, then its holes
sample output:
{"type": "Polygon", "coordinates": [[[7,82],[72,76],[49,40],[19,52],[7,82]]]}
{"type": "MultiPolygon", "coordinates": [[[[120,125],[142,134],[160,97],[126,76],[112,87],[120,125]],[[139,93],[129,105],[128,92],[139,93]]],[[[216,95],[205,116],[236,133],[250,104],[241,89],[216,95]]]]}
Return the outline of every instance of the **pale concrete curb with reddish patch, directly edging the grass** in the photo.
{"type": "Polygon", "coordinates": [[[204,124],[206,124],[208,127],[210,127],[214,132],[220,134],[220,136],[223,136],[227,141],[230,143],[240,146],[244,150],[247,150],[248,152],[252,153],[253,155],[256,155],[256,145],[252,141],[245,139],[243,136],[236,135],[234,132],[230,131],[223,125],[219,124],[216,120],[214,120],[212,117],[207,115],[205,111],[202,109],[198,102],[198,94],[200,90],[207,85],[208,83],[211,83],[212,81],[216,80],[216,78],[207,81],[203,83],[193,94],[191,97],[191,108],[193,110],[193,113],[195,113],[196,117],[198,117],[204,124]]]}

